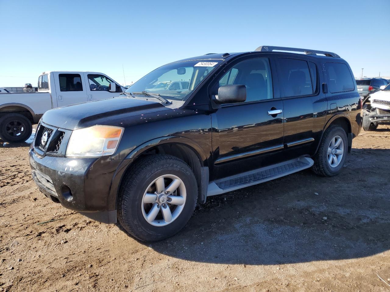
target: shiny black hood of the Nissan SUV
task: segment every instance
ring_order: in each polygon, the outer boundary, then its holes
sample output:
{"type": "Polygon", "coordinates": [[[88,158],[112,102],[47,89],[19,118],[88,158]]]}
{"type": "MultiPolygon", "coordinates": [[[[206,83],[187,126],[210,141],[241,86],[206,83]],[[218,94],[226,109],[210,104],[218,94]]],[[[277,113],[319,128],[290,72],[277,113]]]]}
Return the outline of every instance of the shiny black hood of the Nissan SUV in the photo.
{"type": "Polygon", "coordinates": [[[48,125],[68,130],[93,125],[121,126],[120,118],[167,109],[163,104],[154,100],[115,97],[51,109],[43,115],[42,121],[48,125]]]}

